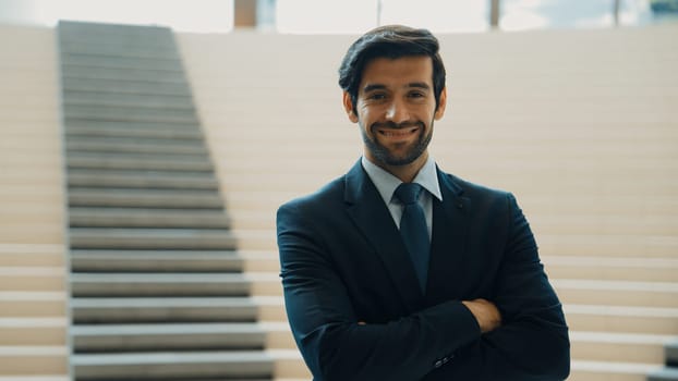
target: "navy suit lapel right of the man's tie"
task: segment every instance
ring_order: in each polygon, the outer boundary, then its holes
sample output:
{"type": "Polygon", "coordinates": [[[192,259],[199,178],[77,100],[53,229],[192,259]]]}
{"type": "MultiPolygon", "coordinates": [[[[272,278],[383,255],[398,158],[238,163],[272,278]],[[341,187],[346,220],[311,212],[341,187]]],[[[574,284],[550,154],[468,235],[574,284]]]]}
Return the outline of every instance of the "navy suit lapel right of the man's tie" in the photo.
{"type": "Polygon", "coordinates": [[[426,298],[429,304],[461,296],[468,260],[471,201],[451,177],[438,170],[443,202],[434,198],[433,236],[426,298]]]}

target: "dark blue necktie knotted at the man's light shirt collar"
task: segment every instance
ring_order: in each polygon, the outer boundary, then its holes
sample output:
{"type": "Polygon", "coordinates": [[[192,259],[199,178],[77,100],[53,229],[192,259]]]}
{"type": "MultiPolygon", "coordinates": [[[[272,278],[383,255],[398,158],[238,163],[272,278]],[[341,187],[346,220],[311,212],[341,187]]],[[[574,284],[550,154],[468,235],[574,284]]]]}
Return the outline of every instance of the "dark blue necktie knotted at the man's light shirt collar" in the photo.
{"type": "Polygon", "coordinates": [[[416,201],[422,186],[415,183],[402,183],[396,188],[396,197],[404,205],[400,219],[400,235],[416,271],[422,292],[426,292],[426,273],[431,244],[424,209],[416,201]]]}

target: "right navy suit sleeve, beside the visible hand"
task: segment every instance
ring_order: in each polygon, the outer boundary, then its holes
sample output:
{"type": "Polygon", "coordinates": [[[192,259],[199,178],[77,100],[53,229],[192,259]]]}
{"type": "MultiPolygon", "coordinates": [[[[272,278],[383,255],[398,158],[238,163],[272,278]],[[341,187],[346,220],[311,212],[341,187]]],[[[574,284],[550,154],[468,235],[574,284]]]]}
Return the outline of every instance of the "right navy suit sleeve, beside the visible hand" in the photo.
{"type": "Polygon", "coordinates": [[[458,361],[425,380],[556,381],[570,371],[568,327],[548,283],[530,225],[507,194],[509,229],[493,295],[503,324],[483,334],[458,361]]]}

